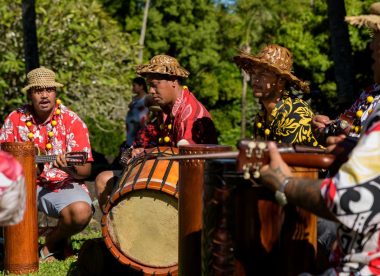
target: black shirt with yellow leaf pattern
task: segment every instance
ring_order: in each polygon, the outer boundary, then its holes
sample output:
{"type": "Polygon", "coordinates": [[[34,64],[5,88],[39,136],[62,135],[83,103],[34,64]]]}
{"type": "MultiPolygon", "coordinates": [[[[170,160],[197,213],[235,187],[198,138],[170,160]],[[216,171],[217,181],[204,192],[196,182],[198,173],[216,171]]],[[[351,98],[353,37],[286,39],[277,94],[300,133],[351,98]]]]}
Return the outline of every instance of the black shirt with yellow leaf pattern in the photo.
{"type": "Polygon", "coordinates": [[[314,137],[311,120],[314,116],[309,105],[301,99],[283,97],[272,110],[270,121],[260,112],[254,122],[255,139],[271,140],[278,143],[318,146],[314,137]]]}

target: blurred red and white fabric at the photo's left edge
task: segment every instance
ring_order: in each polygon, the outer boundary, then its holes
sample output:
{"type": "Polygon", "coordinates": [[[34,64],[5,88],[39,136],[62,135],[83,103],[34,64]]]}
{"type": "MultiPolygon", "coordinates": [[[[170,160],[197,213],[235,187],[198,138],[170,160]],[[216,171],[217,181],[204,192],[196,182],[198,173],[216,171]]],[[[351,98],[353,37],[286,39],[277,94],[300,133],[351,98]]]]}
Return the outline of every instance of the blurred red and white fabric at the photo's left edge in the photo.
{"type": "Polygon", "coordinates": [[[25,179],[20,163],[0,151],[0,225],[19,223],[25,211],[25,179]]]}

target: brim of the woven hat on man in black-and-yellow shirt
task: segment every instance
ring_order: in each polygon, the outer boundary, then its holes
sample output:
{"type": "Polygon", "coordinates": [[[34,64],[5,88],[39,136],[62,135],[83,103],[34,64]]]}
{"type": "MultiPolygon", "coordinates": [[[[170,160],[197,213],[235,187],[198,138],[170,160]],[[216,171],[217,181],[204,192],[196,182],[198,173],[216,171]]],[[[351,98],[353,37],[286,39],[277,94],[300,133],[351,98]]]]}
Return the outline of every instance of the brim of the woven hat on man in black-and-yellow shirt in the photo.
{"type": "Polygon", "coordinates": [[[239,56],[234,57],[234,61],[241,69],[246,71],[248,74],[252,71],[253,68],[262,67],[267,70],[270,70],[271,72],[275,73],[278,76],[285,78],[291,84],[301,89],[302,91],[304,92],[310,91],[309,85],[306,82],[301,81],[292,73],[281,70],[280,68],[277,68],[262,59],[256,58],[255,56],[252,56],[246,53],[241,53],[239,56]]]}

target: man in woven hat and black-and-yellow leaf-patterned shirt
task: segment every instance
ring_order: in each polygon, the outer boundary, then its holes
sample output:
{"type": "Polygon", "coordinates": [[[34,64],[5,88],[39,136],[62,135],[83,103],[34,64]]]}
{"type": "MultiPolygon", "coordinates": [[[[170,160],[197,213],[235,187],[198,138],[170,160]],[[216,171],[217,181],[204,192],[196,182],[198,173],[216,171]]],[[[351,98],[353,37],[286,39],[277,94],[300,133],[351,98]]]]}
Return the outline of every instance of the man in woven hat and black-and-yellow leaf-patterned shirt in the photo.
{"type": "Polygon", "coordinates": [[[257,55],[241,52],[234,60],[249,74],[253,96],[262,107],[254,121],[253,138],[318,146],[311,128],[313,111],[297,97],[308,92],[309,86],[292,74],[290,51],[272,44],[257,55]]]}

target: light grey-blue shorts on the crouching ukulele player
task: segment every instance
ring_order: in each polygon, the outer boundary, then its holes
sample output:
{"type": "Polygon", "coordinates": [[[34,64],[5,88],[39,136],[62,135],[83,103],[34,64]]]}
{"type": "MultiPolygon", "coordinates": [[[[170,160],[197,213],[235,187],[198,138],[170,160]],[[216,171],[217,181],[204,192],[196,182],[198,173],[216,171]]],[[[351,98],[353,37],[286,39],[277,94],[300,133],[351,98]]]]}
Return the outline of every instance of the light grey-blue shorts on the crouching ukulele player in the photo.
{"type": "Polygon", "coordinates": [[[55,191],[37,186],[38,210],[50,217],[58,218],[63,208],[78,201],[87,202],[92,207],[89,194],[78,183],[68,184],[55,191]]]}

